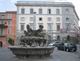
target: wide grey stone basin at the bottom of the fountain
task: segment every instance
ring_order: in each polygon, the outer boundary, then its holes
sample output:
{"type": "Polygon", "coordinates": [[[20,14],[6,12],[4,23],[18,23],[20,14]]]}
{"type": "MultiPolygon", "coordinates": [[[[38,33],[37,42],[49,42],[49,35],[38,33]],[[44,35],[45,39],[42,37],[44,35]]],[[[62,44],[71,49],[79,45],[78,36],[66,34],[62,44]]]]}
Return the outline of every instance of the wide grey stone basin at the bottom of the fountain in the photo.
{"type": "Polygon", "coordinates": [[[47,56],[53,53],[54,47],[9,46],[9,49],[16,56],[47,56]]]}

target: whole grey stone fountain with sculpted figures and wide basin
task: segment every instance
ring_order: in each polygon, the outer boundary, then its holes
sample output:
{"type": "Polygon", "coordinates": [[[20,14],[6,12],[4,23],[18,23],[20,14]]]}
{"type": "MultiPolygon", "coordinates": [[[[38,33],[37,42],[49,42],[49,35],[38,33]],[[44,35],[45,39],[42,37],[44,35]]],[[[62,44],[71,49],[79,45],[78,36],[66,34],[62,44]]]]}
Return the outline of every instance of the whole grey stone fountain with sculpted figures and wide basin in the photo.
{"type": "Polygon", "coordinates": [[[27,31],[20,37],[18,46],[9,46],[9,49],[14,55],[18,56],[47,56],[50,55],[54,47],[48,46],[47,33],[43,31],[43,26],[40,25],[38,30],[32,30],[27,25],[27,31]]]}

